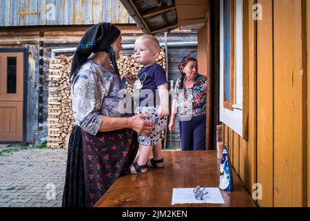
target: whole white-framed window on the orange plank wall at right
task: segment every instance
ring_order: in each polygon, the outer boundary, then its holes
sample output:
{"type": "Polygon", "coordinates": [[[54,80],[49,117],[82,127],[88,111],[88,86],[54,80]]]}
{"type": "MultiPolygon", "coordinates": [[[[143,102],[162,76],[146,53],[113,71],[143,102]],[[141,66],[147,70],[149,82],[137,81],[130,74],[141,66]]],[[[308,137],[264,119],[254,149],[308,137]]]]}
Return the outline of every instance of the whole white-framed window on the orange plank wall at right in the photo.
{"type": "Polygon", "coordinates": [[[242,134],[242,0],[220,0],[220,121],[242,134]]]}

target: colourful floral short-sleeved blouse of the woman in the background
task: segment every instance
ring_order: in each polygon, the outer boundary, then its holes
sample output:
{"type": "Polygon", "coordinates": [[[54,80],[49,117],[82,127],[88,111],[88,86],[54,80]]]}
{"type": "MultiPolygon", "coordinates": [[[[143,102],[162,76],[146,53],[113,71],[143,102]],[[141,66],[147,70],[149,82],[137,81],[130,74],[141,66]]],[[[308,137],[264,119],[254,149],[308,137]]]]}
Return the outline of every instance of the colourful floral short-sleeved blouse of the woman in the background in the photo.
{"type": "Polygon", "coordinates": [[[180,78],[176,81],[174,98],[178,115],[181,117],[194,117],[205,115],[207,104],[207,77],[197,75],[192,88],[186,88],[183,82],[183,89],[179,89],[180,78]]]}

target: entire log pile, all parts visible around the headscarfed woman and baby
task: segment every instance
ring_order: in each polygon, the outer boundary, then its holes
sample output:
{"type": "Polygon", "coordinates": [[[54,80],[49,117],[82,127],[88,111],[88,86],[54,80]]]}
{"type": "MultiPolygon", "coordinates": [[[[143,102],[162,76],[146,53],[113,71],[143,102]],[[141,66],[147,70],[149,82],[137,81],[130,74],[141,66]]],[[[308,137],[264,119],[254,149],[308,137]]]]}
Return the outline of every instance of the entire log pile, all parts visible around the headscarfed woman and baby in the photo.
{"type": "MultiPolygon", "coordinates": [[[[161,48],[156,60],[166,70],[165,48],[161,48]]],[[[74,126],[72,111],[70,68],[72,56],[56,56],[50,59],[49,97],[48,97],[48,148],[64,148],[66,138],[74,126]]],[[[134,61],[133,56],[121,55],[118,59],[118,70],[123,75],[130,70],[134,76],[143,68],[134,61]]],[[[132,86],[126,82],[126,88],[133,94],[132,86]]]]}

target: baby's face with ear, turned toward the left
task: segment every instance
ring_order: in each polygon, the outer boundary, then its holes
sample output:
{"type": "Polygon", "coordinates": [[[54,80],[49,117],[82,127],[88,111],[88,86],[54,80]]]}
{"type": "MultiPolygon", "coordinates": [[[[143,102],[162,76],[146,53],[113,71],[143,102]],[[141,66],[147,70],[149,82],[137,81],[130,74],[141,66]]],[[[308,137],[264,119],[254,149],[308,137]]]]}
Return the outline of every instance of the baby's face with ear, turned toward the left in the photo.
{"type": "Polygon", "coordinates": [[[134,44],[134,60],[143,66],[154,64],[158,57],[158,50],[148,39],[138,39],[134,44]]]}

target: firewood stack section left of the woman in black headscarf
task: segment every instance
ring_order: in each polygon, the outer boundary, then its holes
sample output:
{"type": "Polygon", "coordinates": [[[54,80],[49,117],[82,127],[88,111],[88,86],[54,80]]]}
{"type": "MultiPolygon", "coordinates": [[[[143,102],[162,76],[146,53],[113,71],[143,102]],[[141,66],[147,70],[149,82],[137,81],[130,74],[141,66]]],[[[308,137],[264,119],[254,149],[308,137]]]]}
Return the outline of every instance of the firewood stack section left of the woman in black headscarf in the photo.
{"type": "Polygon", "coordinates": [[[48,147],[63,148],[74,126],[70,94],[72,57],[64,55],[50,59],[48,88],[48,147]]]}

